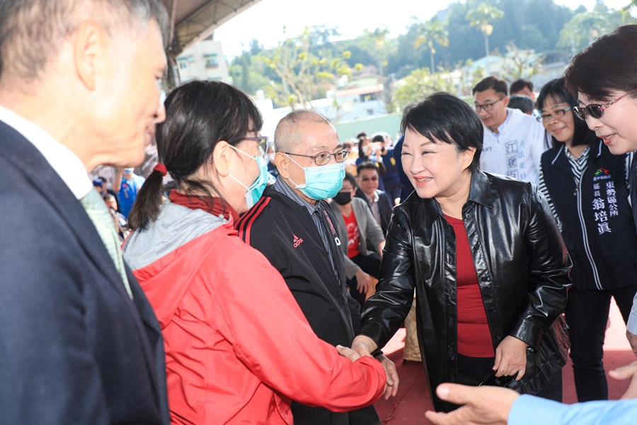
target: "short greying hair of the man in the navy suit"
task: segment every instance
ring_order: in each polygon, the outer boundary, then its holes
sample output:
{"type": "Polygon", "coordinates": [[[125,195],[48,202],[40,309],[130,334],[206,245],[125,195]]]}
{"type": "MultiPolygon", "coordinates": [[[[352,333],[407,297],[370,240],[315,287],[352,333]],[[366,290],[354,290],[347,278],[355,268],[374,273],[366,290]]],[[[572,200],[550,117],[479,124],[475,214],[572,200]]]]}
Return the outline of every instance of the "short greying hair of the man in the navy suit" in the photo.
{"type": "Polygon", "coordinates": [[[164,45],[169,42],[170,21],[161,0],[1,0],[0,76],[42,77],[64,39],[85,19],[98,21],[109,35],[155,21],[164,45]]]}

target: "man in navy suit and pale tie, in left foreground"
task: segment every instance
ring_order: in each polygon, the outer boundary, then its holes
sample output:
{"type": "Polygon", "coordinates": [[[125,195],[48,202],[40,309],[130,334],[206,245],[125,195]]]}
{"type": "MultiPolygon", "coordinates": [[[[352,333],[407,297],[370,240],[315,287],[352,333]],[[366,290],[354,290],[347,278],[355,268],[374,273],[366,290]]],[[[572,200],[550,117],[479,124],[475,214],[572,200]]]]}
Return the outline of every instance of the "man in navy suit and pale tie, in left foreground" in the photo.
{"type": "Polygon", "coordinates": [[[167,27],[159,0],[2,1],[1,424],[168,423],[159,324],[87,175],[144,159],[167,27]]]}

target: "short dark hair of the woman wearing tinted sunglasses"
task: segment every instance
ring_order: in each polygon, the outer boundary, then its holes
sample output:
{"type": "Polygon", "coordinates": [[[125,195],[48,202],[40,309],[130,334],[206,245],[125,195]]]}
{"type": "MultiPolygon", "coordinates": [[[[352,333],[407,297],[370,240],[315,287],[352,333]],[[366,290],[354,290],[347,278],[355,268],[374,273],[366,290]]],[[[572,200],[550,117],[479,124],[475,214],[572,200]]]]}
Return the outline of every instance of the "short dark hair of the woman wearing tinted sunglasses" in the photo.
{"type": "Polygon", "coordinates": [[[637,89],[637,25],[602,35],[573,57],[564,76],[568,91],[596,101],[609,101],[612,91],[637,89]]]}

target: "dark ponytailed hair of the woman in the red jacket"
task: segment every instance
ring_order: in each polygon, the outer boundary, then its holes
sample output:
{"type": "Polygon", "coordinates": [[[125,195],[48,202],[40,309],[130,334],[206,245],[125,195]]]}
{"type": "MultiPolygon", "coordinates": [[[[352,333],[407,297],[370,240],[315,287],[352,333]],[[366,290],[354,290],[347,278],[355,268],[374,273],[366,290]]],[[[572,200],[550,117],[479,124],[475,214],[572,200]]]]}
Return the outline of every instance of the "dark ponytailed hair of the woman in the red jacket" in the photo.
{"type": "MultiPolygon", "coordinates": [[[[220,81],[190,81],[178,86],[166,98],[166,120],[157,125],[159,162],[183,193],[205,193],[209,198],[219,191],[210,181],[193,174],[207,161],[217,142],[237,145],[248,132],[259,132],[263,118],[246,94],[220,81]]],[[[146,229],[156,220],[161,206],[163,176],[153,171],[129,216],[134,229],[146,229]]]]}

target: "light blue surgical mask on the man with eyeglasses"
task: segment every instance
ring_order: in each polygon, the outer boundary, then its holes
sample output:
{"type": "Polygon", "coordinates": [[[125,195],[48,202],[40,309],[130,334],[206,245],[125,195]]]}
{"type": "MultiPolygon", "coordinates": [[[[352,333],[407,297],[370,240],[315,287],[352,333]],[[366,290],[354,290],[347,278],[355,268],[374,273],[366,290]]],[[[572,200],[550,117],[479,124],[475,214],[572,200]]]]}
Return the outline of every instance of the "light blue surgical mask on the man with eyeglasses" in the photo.
{"type": "MultiPolygon", "coordinates": [[[[292,159],[287,155],[289,159],[292,159]]],[[[336,164],[328,164],[321,166],[301,166],[292,159],[305,171],[305,184],[294,183],[294,187],[303,192],[310,199],[321,200],[332,198],[343,187],[343,179],[345,179],[345,162],[337,162],[336,164]]]]}

